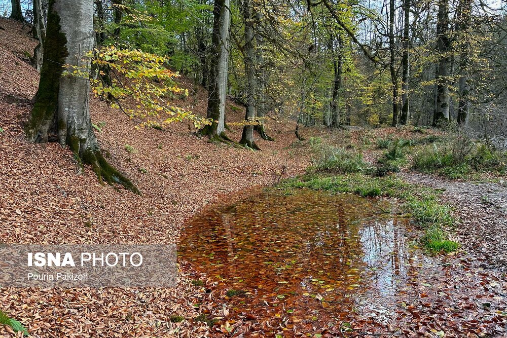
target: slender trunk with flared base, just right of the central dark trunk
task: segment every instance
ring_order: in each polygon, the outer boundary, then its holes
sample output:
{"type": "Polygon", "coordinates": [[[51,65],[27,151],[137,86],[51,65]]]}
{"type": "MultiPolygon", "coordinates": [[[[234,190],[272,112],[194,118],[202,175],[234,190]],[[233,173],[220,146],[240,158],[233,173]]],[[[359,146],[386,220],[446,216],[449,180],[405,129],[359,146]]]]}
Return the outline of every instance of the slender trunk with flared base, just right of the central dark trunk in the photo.
{"type": "Polygon", "coordinates": [[[257,27],[255,27],[255,40],[257,41],[257,49],[256,49],[256,61],[257,61],[257,118],[258,118],[258,124],[254,127],[254,130],[259,132],[259,135],[262,139],[265,139],[267,141],[274,141],[275,139],[269,136],[266,133],[266,127],[265,127],[265,118],[266,118],[266,104],[264,102],[265,100],[265,92],[266,92],[266,74],[264,69],[264,55],[262,46],[264,44],[264,37],[260,33],[261,29],[261,13],[257,12],[255,14],[255,22],[257,23],[257,27]]]}

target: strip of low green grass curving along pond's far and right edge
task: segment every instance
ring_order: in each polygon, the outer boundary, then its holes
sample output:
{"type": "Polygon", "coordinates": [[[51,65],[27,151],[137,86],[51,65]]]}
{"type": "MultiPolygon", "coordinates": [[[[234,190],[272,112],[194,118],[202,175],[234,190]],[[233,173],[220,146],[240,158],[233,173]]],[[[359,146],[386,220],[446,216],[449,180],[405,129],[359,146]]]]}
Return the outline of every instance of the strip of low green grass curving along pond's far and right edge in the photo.
{"type": "Polygon", "coordinates": [[[448,206],[438,202],[440,191],[418,187],[393,176],[373,177],[355,173],[324,176],[316,173],[283,181],[280,189],[311,189],[333,194],[354,193],[365,197],[385,196],[403,200],[404,209],[411,214],[425,234],[421,244],[430,252],[451,252],[458,243],[450,241],[444,228],[454,226],[454,218],[448,206]]]}

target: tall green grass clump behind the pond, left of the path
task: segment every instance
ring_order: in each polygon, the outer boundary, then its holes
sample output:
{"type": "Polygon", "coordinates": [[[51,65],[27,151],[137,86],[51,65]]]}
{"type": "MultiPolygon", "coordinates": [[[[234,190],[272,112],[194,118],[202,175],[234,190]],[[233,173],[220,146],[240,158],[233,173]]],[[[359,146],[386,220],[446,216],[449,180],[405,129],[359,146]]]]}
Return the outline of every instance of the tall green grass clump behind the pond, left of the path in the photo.
{"type": "Polygon", "coordinates": [[[310,170],[354,173],[372,169],[361,153],[324,144],[320,139],[310,139],[310,146],[314,154],[310,170]]]}

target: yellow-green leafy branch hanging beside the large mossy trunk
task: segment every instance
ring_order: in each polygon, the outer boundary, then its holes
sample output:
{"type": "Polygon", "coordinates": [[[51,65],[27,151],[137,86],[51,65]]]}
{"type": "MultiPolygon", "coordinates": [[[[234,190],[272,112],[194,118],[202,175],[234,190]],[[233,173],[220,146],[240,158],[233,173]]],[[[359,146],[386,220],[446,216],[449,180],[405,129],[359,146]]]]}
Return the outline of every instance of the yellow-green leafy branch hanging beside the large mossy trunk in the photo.
{"type": "MultiPolygon", "coordinates": [[[[107,99],[113,108],[122,109],[143,126],[164,126],[172,122],[191,121],[196,128],[209,124],[192,111],[170,104],[171,99],[189,95],[177,86],[177,72],[167,68],[167,58],[139,50],[107,46],[87,54],[99,69],[91,78],[92,92],[107,99]],[[130,104],[123,104],[127,101],[130,104]]],[[[67,66],[64,76],[88,77],[86,68],[67,66]]]]}

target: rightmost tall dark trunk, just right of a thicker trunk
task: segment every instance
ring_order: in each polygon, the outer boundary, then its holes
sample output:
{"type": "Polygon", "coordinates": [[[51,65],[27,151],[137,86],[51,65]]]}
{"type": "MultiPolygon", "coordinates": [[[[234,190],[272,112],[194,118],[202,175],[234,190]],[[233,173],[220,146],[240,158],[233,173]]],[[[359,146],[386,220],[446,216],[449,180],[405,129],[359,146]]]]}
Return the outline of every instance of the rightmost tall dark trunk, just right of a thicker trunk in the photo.
{"type": "Polygon", "coordinates": [[[457,123],[464,126],[468,122],[470,114],[469,101],[470,85],[468,83],[468,68],[470,63],[470,28],[472,26],[472,1],[461,0],[459,4],[459,22],[461,23],[460,31],[460,55],[459,55],[459,102],[457,123]]]}

